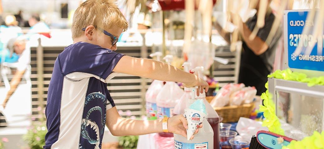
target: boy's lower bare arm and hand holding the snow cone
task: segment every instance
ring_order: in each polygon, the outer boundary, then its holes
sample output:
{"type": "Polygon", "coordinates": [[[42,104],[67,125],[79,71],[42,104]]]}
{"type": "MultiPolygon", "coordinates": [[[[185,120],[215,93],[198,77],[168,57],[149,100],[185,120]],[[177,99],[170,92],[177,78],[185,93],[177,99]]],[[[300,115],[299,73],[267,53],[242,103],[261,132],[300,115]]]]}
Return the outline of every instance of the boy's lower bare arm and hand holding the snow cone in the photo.
{"type": "MultiPolygon", "coordinates": [[[[116,107],[107,110],[106,125],[114,136],[123,135],[143,135],[152,133],[161,133],[162,119],[159,120],[132,120],[122,118],[117,112],[116,107]]],[[[168,131],[174,134],[180,134],[187,137],[186,128],[188,123],[183,115],[175,115],[168,119],[168,131]]],[[[199,128],[202,128],[200,125],[199,128]]],[[[199,129],[194,134],[197,134],[199,129]]],[[[191,137],[193,139],[194,136],[191,137]]]]}

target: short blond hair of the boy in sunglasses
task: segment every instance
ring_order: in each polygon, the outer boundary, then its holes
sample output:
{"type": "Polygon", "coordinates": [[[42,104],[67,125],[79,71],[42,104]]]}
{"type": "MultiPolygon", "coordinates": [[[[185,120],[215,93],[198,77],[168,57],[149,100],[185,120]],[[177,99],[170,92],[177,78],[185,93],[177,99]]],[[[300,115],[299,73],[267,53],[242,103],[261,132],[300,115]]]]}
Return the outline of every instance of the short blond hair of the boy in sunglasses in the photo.
{"type": "Polygon", "coordinates": [[[82,28],[89,25],[104,30],[115,26],[121,28],[123,32],[126,31],[128,23],[113,2],[113,0],[87,0],[82,3],[73,16],[72,39],[80,37],[83,34],[82,28]]]}

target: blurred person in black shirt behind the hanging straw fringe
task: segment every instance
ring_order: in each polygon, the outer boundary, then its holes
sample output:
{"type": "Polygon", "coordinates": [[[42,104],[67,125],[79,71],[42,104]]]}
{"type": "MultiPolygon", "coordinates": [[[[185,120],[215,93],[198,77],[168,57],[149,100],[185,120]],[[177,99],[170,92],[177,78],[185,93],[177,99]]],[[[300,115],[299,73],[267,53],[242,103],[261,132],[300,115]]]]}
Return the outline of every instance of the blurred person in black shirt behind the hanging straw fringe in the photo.
{"type": "MultiPolygon", "coordinates": [[[[272,72],[277,43],[282,35],[281,27],[278,27],[271,43],[265,42],[275,19],[272,8],[270,7],[270,2],[269,0],[268,7],[266,8],[264,26],[259,29],[253,40],[249,40],[249,36],[257,23],[260,2],[258,1],[256,4],[256,14],[250,17],[245,23],[242,21],[241,17],[239,17],[239,24],[241,25],[238,26],[238,29],[243,39],[243,50],[241,53],[238,83],[244,83],[246,86],[255,86],[257,95],[261,95],[266,91],[264,84],[268,81],[267,75],[272,72]]],[[[235,17],[234,14],[231,14],[231,18],[233,17],[235,17]]],[[[230,43],[229,34],[217,23],[215,28],[220,35],[230,43]]]]}

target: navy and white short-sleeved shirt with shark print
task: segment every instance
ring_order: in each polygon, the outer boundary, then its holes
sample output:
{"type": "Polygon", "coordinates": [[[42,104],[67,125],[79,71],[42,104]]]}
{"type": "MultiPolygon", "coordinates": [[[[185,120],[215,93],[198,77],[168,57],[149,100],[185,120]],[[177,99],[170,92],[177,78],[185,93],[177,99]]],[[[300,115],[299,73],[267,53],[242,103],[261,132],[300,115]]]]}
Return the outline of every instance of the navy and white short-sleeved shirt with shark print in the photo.
{"type": "Polygon", "coordinates": [[[123,55],[78,42],[57,57],[48,88],[44,149],[99,149],[106,110],[115,106],[107,82],[123,55]]]}

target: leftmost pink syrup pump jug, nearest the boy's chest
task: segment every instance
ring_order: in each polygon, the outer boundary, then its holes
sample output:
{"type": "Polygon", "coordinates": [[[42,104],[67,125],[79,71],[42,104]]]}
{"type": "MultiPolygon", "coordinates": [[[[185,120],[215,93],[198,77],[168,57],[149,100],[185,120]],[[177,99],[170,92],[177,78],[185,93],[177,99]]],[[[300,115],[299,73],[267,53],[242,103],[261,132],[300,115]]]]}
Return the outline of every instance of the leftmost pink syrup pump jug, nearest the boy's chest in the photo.
{"type": "MultiPolygon", "coordinates": [[[[162,52],[155,52],[150,54],[151,57],[156,56],[156,60],[160,61],[162,52]]],[[[157,107],[156,107],[156,96],[161,91],[163,87],[163,81],[160,80],[153,80],[151,85],[148,87],[145,100],[146,100],[146,115],[148,120],[155,120],[157,119],[157,107]]]]}

